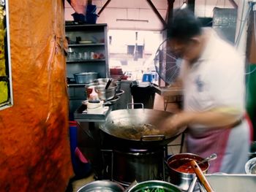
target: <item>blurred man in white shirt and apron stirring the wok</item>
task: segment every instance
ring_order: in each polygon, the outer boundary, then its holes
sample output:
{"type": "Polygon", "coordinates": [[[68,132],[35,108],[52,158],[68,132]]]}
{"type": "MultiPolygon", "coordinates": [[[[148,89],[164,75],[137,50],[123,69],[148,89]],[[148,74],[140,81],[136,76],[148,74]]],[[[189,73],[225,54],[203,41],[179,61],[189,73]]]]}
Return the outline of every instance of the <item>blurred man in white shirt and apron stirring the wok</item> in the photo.
{"type": "Polygon", "coordinates": [[[184,111],[165,120],[171,129],[187,128],[187,151],[206,158],[217,153],[208,173],[244,173],[249,124],[244,119],[244,61],[211,28],[201,28],[189,9],[177,9],[167,26],[168,46],[183,59],[178,82],[184,111]]]}

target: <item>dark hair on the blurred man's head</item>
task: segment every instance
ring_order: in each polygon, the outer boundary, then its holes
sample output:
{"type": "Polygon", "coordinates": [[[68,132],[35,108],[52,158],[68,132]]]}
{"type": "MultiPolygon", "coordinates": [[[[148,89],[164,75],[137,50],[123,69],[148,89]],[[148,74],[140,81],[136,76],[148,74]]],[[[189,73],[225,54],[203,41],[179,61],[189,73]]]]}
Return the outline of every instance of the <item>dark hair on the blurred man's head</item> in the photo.
{"type": "Polygon", "coordinates": [[[201,34],[201,23],[189,9],[176,9],[167,24],[167,38],[187,41],[201,34]]]}

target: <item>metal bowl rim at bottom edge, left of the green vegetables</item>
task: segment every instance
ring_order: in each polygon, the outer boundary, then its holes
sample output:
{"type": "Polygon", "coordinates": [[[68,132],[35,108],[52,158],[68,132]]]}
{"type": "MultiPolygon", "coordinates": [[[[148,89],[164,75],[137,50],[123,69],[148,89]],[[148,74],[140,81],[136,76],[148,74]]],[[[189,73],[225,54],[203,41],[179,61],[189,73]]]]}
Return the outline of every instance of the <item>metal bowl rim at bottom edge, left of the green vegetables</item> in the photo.
{"type": "Polygon", "coordinates": [[[97,180],[79,188],[77,192],[121,192],[124,188],[118,183],[108,180],[97,180]]]}

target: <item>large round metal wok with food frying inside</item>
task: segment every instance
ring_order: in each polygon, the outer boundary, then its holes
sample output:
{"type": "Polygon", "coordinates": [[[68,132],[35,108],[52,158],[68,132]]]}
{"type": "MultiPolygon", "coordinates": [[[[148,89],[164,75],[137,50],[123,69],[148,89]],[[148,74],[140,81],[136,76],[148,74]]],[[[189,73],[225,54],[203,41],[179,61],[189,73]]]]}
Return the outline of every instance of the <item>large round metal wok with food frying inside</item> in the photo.
{"type": "Polygon", "coordinates": [[[168,135],[160,131],[159,126],[170,115],[173,113],[149,109],[115,110],[110,112],[105,123],[99,124],[99,128],[108,137],[110,145],[157,147],[172,142],[185,130],[185,127],[173,130],[168,135]]]}

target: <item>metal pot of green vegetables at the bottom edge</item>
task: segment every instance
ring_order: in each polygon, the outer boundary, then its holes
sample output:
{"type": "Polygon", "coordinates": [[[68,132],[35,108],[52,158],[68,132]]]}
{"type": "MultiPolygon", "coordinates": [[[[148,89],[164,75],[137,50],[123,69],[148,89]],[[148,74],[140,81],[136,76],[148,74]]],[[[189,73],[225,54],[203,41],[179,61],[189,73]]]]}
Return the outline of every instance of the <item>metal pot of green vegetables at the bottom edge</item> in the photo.
{"type": "Polygon", "coordinates": [[[134,185],[130,188],[129,192],[141,192],[141,191],[158,191],[162,189],[165,192],[182,192],[176,185],[167,183],[162,180],[148,180],[134,185]]]}

